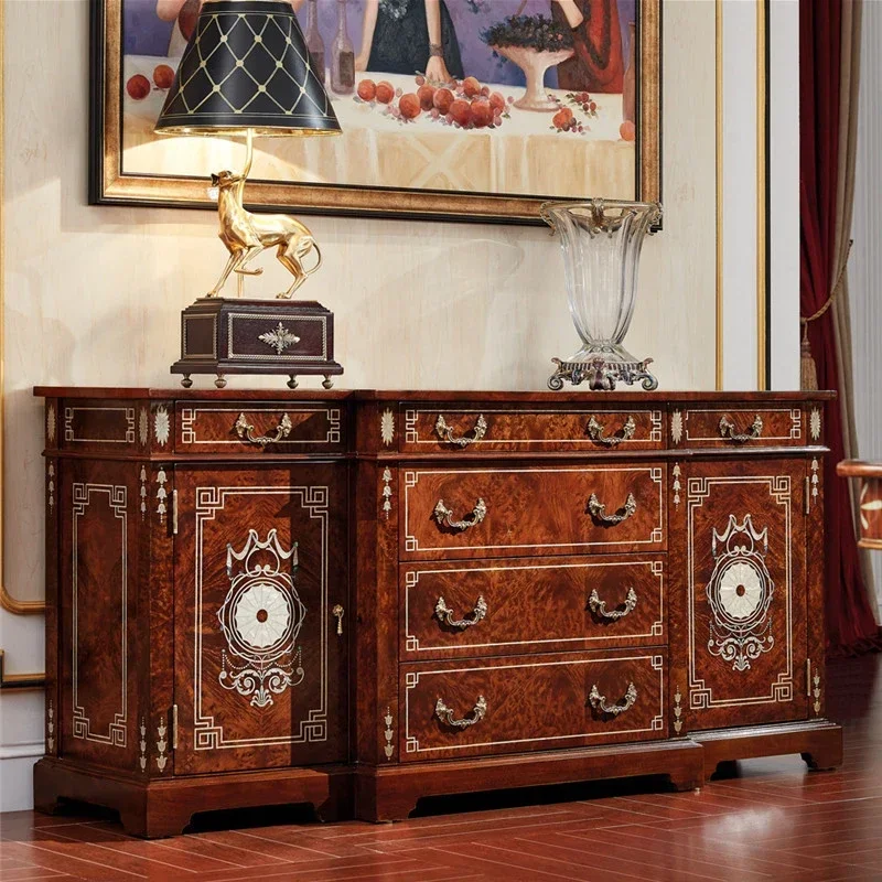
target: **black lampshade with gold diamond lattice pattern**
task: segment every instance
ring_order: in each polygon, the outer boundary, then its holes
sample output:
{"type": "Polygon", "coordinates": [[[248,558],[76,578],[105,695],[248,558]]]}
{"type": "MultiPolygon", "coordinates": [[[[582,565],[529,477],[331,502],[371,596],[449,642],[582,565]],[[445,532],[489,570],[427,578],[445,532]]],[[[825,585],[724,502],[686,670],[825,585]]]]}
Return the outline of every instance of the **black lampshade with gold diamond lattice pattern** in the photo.
{"type": "Polygon", "coordinates": [[[163,135],[337,135],[286,0],[205,0],[155,131],[163,135]]]}

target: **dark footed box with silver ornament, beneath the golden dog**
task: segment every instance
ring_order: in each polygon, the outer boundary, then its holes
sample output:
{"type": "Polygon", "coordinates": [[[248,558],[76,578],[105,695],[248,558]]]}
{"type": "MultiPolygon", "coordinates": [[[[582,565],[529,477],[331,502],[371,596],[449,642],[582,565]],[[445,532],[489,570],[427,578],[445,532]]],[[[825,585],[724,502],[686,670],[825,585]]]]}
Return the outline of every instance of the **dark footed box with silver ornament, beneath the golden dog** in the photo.
{"type": "Polygon", "coordinates": [[[201,298],[181,313],[181,358],[171,366],[193,385],[192,374],[283,374],[297,387],[299,375],[342,374],[334,361],[334,313],[314,300],[229,300],[201,298]]]}

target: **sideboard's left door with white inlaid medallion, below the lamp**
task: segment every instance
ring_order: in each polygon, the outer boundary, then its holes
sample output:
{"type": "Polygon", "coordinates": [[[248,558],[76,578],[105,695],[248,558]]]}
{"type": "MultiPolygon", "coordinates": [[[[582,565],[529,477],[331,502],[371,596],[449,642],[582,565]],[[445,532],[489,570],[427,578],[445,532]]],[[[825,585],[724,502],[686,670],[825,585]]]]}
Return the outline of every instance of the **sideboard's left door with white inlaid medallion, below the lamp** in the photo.
{"type": "Polygon", "coordinates": [[[346,465],[179,467],[175,490],[175,774],[345,760],[346,465]]]}

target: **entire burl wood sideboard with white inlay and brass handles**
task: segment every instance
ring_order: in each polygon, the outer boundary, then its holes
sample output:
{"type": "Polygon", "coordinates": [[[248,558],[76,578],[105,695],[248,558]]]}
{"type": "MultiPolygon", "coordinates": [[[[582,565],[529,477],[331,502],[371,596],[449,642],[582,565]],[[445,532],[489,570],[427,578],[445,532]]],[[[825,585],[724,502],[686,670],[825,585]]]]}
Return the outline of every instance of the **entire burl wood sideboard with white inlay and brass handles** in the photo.
{"type": "Polygon", "coordinates": [[[37,388],[37,808],[312,803],[796,752],[824,716],[824,408],[794,394],[37,388]]]}

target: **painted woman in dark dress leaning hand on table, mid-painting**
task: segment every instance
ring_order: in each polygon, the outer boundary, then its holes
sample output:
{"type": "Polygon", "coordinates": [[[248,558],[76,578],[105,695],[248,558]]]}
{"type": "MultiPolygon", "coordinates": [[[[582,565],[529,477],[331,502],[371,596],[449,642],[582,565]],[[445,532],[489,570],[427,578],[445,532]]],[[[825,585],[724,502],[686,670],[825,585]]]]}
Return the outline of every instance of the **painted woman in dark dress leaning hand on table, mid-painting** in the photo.
{"type": "Polygon", "coordinates": [[[355,69],[424,73],[438,83],[462,79],[460,44],[444,0],[365,0],[355,69]]]}

